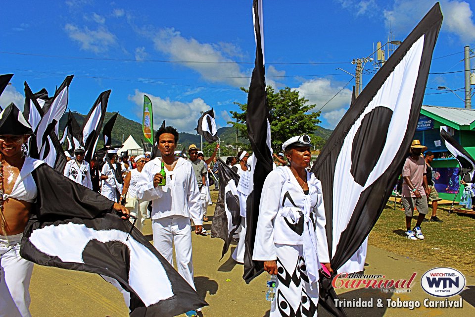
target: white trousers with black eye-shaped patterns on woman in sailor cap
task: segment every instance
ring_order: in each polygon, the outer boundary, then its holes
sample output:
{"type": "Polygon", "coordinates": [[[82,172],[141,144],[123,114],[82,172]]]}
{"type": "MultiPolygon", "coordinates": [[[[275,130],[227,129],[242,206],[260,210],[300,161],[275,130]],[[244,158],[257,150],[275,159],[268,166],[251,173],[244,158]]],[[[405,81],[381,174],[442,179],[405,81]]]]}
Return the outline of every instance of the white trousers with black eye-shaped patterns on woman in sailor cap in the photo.
{"type": "Polygon", "coordinates": [[[302,245],[276,243],[276,253],[277,290],[269,316],[316,317],[319,285],[309,284],[302,245]]]}

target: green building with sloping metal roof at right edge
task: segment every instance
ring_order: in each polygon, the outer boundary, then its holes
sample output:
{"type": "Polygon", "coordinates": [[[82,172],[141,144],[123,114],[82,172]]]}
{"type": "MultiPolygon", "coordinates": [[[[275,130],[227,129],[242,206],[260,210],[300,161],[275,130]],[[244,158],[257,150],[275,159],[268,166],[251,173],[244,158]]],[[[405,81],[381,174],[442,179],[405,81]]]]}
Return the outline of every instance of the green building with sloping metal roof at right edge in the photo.
{"type": "MultiPolygon", "coordinates": [[[[441,106],[422,106],[414,139],[419,139],[435,154],[432,162],[435,188],[440,198],[452,200],[459,189],[459,164],[440,138],[440,126],[475,158],[475,110],[441,106]]],[[[460,200],[461,193],[456,200],[460,200]]]]}

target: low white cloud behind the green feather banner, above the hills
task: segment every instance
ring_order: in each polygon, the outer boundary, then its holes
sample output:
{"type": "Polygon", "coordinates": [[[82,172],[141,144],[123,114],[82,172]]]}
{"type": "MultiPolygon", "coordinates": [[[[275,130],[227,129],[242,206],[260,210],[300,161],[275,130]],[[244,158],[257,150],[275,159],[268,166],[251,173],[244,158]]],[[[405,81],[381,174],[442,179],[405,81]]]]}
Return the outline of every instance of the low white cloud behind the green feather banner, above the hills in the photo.
{"type": "Polygon", "coordinates": [[[201,98],[195,98],[191,102],[173,101],[170,98],[162,99],[152,94],[135,90],[133,96],[129,95],[129,100],[136,104],[136,113],[142,117],[143,95],[147,95],[153,105],[153,123],[159,127],[163,120],[167,125],[174,126],[179,132],[196,133],[196,127],[200,111],[211,109],[201,98]],[[194,132],[193,132],[194,131],[194,132]]]}

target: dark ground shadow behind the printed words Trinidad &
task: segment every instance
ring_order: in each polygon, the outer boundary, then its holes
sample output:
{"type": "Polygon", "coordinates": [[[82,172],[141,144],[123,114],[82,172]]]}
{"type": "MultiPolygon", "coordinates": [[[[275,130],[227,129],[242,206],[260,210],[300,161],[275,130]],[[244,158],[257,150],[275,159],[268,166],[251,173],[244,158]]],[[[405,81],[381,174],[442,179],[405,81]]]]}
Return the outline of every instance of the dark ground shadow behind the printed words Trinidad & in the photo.
{"type": "MultiPolygon", "coordinates": [[[[383,289],[384,290],[384,289],[383,289]]],[[[386,299],[391,298],[394,294],[391,292],[394,288],[387,289],[387,293],[381,292],[381,289],[373,288],[360,288],[354,291],[338,294],[338,299],[347,300],[347,301],[357,301],[361,298],[361,301],[369,301],[373,299],[373,308],[345,308],[346,314],[351,317],[382,317],[386,313],[386,299]],[[382,300],[382,308],[376,306],[378,304],[378,299],[382,300]]],[[[332,317],[325,308],[321,305],[318,306],[318,316],[319,317],[332,317]]]]}

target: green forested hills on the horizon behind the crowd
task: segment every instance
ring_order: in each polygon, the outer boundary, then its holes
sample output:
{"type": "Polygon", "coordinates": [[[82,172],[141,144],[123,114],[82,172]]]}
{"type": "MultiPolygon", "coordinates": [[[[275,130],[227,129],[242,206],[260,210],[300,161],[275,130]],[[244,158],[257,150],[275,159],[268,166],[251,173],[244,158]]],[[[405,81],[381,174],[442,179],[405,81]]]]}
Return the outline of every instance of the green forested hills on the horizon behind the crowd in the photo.
{"type": "MultiPolygon", "coordinates": [[[[110,119],[110,117],[115,112],[106,112],[104,124],[110,119]]],[[[78,121],[79,125],[82,126],[84,119],[86,118],[86,114],[81,114],[79,112],[73,112],[73,116],[78,121]]],[[[59,133],[62,134],[64,130],[64,126],[67,122],[67,113],[65,113],[62,118],[59,120],[59,133]]],[[[322,127],[318,127],[318,129],[314,132],[316,136],[321,137],[325,141],[328,140],[330,135],[332,134],[332,130],[325,129],[322,127]]],[[[141,145],[141,140],[143,139],[142,133],[142,123],[136,122],[134,120],[127,119],[122,115],[118,115],[117,119],[114,124],[114,128],[112,129],[112,145],[119,145],[122,144],[123,140],[127,140],[129,135],[135,139],[135,141],[141,145]]],[[[233,127],[222,127],[218,129],[218,136],[221,140],[222,144],[235,144],[236,143],[236,129],[233,127]]],[[[61,138],[61,135],[59,136],[61,138]]],[[[205,143],[205,141],[203,141],[205,143]]],[[[198,134],[191,134],[187,132],[180,132],[179,138],[179,146],[178,149],[182,149],[182,147],[188,147],[190,144],[196,144],[199,147],[200,143],[200,136],[198,134]]],[[[247,137],[238,136],[238,143],[242,144],[249,144],[249,140],[247,137]]],[[[99,137],[99,142],[97,143],[97,148],[100,149],[104,146],[102,134],[99,137]]]]}

